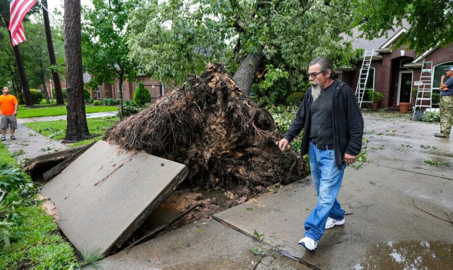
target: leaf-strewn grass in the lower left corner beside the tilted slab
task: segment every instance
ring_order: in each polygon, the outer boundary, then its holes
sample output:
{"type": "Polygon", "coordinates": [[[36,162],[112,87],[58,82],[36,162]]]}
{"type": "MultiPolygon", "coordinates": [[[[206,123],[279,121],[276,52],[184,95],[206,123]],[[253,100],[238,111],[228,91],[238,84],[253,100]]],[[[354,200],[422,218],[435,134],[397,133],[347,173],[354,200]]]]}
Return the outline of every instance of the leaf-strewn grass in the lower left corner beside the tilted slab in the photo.
{"type": "Polygon", "coordinates": [[[52,217],[36,201],[36,187],[4,144],[0,144],[0,187],[8,191],[0,204],[0,269],[75,269],[81,265],[71,244],[58,233],[52,217]],[[20,178],[20,179],[18,179],[20,178]],[[2,182],[4,181],[4,182],[2,182]],[[5,183],[8,183],[6,184],[5,183]],[[11,188],[15,182],[25,185],[11,188]],[[28,190],[22,194],[24,190],[28,190]],[[6,248],[5,232],[11,246],[6,248]]]}

